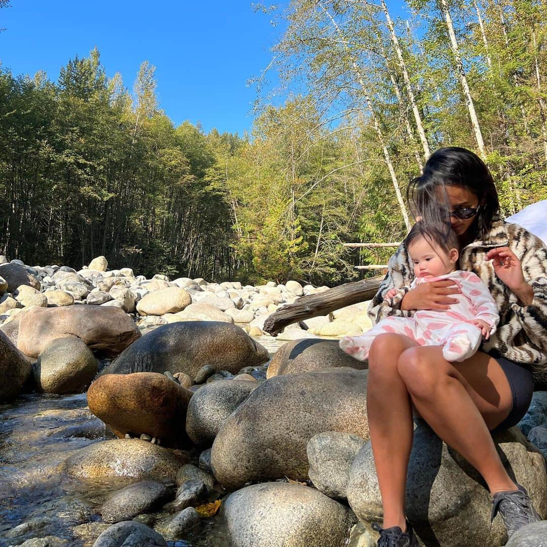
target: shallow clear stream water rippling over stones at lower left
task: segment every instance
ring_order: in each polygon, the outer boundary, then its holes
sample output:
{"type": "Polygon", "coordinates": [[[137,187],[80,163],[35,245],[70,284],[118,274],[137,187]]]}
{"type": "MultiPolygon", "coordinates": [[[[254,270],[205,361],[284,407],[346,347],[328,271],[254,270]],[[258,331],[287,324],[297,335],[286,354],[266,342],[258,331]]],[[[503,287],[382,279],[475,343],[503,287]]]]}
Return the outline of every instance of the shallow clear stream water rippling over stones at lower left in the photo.
{"type": "MultiPolygon", "coordinates": [[[[270,353],[285,341],[257,339],[270,353]]],[[[106,527],[97,513],[109,494],[127,479],[82,482],[57,467],[75,451],[106,439],[102,424],[78,395],[25,394],[0,404],[0,547],[30,538],[54,536],[70,547],[91,547],[106,527]],[[68,436],[72,426],[86,426],[95,437],[68,436]]],[[[198,531],[171,547],[224,547],[217,519],[202,519],[198,531]]]]}

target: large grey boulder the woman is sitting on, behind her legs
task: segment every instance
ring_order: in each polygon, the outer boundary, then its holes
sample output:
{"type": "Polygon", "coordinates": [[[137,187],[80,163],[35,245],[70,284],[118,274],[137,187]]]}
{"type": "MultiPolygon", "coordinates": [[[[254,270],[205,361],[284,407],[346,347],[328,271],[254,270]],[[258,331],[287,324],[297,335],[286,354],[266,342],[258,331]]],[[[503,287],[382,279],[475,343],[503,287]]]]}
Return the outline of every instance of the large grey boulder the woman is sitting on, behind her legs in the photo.
{"type": "MultiPolygon", "coordinates": [[[[543,456],[517,428],[494,434],[509,474],[523,485],[540,516],[547,516],[547,473],[543,456]]],[[[366,528],[382,520],[382,501],[370,443],[353,461],[347,499],[366,528]]],[[[426,545],[498,547],[507,541],[501,517],[490,528],[492,497],[484,480],[457,452],[419,420],[408,468],[406,515],[426,545]],[[471,524],[470,524],[471,523],[471,524]]]]}

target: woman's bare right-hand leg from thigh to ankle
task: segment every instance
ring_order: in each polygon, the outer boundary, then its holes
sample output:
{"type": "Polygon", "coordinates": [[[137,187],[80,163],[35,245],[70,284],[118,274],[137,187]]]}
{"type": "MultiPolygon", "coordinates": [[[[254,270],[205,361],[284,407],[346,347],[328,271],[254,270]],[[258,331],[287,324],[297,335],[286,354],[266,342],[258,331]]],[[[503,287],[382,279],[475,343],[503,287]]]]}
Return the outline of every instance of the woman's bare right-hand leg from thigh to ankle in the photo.
{"type": "Polygon", "coordinates": [[[449,363],[442,348],[422,346],[401,354],[398,371],[420,415],[478,470],[490,492],[516,490],[490,435],[513,401],[497,361],[478,352],[462,363],[449,363]]]}

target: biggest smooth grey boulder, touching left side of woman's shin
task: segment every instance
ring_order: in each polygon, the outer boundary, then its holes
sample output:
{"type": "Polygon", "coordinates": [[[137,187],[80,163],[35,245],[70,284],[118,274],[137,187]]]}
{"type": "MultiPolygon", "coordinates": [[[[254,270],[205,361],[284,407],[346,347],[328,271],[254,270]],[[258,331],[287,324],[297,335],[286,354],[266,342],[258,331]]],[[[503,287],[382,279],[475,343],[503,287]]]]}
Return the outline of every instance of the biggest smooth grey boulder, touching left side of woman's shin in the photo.
{"type": "Polygon", "coordinates": [[[308,441],[323,431],[368,439],[368,371],[349,368],[276,376],[261,383],[220,428],[211,450],[217,480],[306,479],[308,441]]]}

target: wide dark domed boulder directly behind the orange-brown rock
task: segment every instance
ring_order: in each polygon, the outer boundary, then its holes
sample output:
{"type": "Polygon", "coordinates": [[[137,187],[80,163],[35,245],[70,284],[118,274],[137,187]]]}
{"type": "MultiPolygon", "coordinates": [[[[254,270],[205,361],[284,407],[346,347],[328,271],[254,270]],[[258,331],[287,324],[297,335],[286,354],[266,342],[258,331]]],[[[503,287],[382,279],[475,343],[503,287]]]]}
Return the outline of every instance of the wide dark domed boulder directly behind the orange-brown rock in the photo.
{"type": "Polygon", "coordinates": [[[162,325],[144,335],[104,370],[105,374],[169,371],[195,377],[210,364],[232,374],[268,359],[266,349],[243,329],[216,321],[162,325]]]}

